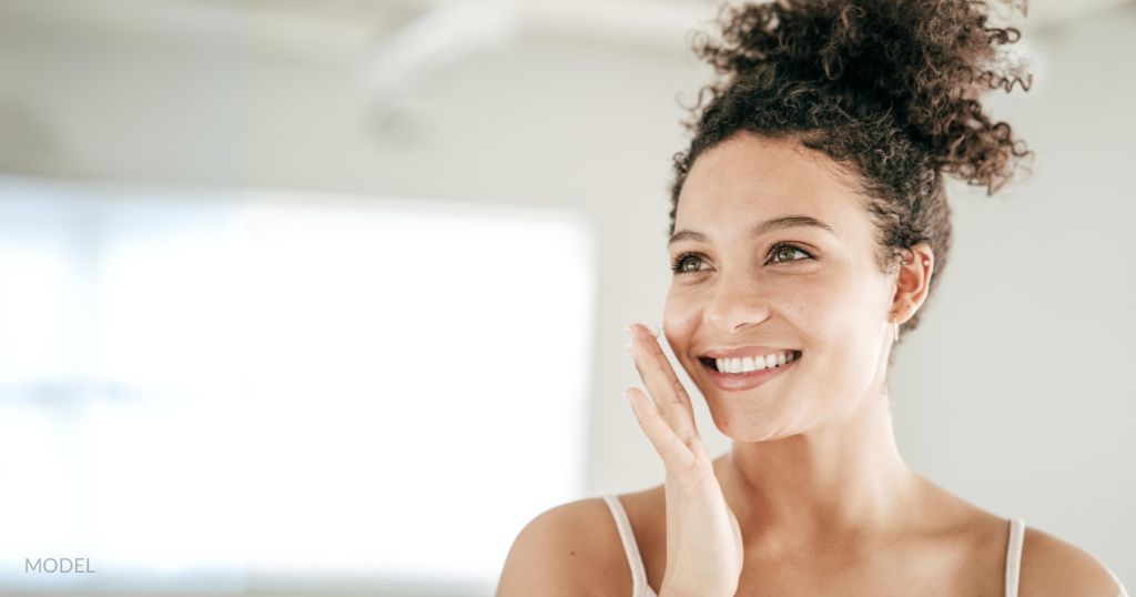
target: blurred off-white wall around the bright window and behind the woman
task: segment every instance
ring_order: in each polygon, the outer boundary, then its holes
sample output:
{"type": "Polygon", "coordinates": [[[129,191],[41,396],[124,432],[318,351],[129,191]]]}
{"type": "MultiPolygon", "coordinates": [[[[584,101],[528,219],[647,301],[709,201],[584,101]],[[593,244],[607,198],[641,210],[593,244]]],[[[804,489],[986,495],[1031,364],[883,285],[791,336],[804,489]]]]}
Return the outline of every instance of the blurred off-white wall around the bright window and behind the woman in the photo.
{"type": "MultiPolygon", "coordinates": [[[[676,93],[692,102],[708,69],[686,52],[525,38],[437,73],[409,119],[379,128],[358,64],[212,31],[134,38],[0,19],[0,171],[578,209],[599,239],[585,495],[661,482],[619,396],[638,383],[623,326],[659,323],[666,183],[685,148],[676,93]]],[[[1081,546],[1129,586],[1134,32],[1128,5],[1027,34],[1043,60],[1034,90],[991,105],[1037,151],[1034,177],[996,198],[954,193],[952,264],[892,381],[918,471],[1081,546]]],[[[698,416],[725,450],[704,405],[698,416]]]]}

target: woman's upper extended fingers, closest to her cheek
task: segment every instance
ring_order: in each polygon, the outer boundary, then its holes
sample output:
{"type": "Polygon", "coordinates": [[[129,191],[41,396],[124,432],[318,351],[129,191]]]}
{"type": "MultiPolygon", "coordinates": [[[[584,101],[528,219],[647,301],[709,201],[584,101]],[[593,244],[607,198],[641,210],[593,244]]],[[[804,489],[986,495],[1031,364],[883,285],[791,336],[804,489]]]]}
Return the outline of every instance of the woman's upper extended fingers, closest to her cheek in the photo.
{"type": "Polygon", "coordinates": [[[686,389],[683,388],[678,376],[675,375],[675,370],[670,366],[670,360],[646,327],[633,324],[629,333],[634,348],[632,359],[640,378],[646,384],[650,397],[659,405],[663,420],[675,434],[684,443],[692,443],[698,439],[698,430],[694,426],[694,409],[686,389]]]}

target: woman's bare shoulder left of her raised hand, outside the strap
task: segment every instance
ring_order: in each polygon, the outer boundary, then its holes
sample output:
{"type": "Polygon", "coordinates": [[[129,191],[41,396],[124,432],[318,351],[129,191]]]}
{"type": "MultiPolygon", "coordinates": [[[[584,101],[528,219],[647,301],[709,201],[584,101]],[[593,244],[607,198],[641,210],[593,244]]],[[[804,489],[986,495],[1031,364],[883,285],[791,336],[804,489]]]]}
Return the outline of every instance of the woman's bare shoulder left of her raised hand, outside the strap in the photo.
{"type": "Polygon", "coordinates": [[[630,592],[619,531],[599,497],[561,504],[529,521],[509,548],[496,588],[496,597],[630,592]]]}

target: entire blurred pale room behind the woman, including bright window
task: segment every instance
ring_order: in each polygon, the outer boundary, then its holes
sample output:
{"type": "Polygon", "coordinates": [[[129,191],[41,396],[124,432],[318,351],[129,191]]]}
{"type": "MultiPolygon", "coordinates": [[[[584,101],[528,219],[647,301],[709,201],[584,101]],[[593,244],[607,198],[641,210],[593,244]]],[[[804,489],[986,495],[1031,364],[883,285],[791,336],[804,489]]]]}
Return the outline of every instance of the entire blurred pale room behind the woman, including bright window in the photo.
{"type": "MultiPolygon", "coordinates": [[[[487,596],[662,482],[623,326],[716,7],[0,0],[0,594],[487,596]]],[[[1136,3],[1011,18],[1034,174],[951,189],[897,440],[1131,586],[1136,3]]]]}

